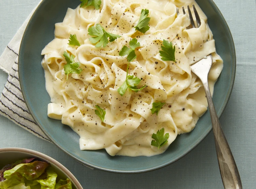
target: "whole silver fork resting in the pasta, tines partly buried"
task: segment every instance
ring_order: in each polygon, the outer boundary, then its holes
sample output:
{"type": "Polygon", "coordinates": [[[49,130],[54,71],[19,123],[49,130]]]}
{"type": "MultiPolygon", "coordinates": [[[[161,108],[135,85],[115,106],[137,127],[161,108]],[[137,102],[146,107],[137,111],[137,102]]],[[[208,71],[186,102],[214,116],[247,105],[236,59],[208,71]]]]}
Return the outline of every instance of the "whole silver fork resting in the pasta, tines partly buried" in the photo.
{"type": "MultiPolygon", "coordinates": [[[[184,7],[183,14],[186,14],[184,7]]],[[[197,13],[196,7],[193,4],[194,13],[196,16],[197,27],[201,25],[200,17],[197,13]]],[[[196,28],[193,16],[191,14],[189,5],[187,6],[188,15],[191,25],[187,27],[196,28]]],[[[177,15],[179,15],[179,8],[177,8],[177,15]]],[[[191,70],[200,78],[203,83],[204,91],[209,105],[210,115],[212,119],[212,128],[214,134],[215,148],[218,158],[219,171],[221,172],[222,182],[225,189],[242,189],[241,178],[237,169],[236,162],[229,148],[227,139],[219,123],[219,119],[212,101],[212,96],[208,84],[208,74],[212,66],[212,55],[209,54],[206,59],[201,59],[195,64],[191,65],[191,70]]]]}

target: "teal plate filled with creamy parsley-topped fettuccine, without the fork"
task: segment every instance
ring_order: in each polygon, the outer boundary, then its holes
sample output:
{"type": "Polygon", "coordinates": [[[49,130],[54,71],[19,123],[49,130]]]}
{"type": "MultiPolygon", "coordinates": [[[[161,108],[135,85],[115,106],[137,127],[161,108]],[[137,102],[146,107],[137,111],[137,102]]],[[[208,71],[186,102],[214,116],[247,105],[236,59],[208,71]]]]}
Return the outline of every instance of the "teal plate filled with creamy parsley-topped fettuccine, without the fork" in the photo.
{"type": "Polygon", "coordinates": [[[20,86],[35,122],[74,159],[145,172],[183,157],[211,131],[202,83],[190,69],[209,54],[221,116],[236,56],[213,1],[43,0],[20,46],[20,86]],[[201,25],[189,29],[188,14],[176,8],[192,4],[201,25]]]}

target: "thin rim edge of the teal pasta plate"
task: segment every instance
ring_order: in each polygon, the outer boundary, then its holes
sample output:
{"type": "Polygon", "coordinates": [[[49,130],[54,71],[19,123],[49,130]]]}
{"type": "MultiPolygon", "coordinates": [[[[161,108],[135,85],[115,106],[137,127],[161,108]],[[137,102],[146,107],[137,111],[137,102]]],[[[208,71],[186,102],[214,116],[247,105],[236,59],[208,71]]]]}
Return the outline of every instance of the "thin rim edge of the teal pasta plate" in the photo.
{"type": "MultiPolygon", "coordinates": [[[[37,14],[37,12],[40,10],[40,7],[42,6],[42,4],[47,1],[47,0],[42,0],[40,2],[40,4],[38,5],[38,7],[35,9],[34,13],[32,14],[28,24],[27,24],[27,27],[25,29],[25,32],[24,32],[24,35],[22,37],[22,41],[21,41],[21,44],[20,44],[20,49],[19,49],[19,55],[22,54],[22,51],[23,51],[23,48],[21,47],[24,47],[25,46],[25,40],[24,40],[24,36],[25,34],[28,32],[28,28],[30,25],[32,25],[32,18],[34,17],[35,14],[37,14]]],[[[236,50],[235,50],[235,46],[234,46],[234,40],[233,40],[233,37],[232,37],[232,34],[231,34],[231,31],[228,27],[228,24],[223,16],[223,14],[221,13],[221,11],[219,10],[219,8],[217,7],[217,5],[214,3],[213,0],[208,0],[210,5],[213,7],[213,9],[219,14],[219,18],[220,20],[222,20],[222,22],[224,23],[223,27],[224,29],[227,31],[228,33],[228,40],[230,41],[230,48],[231,48],[231,59],[233,60],[233,62],[231,62],[232,64],[232,70],[231,70],[231,79],[230,79],[230,85],[229,85],[229,88],[228,88],[228,92],[227,92],[227,96],[224,100],[224,105],[221,107],[221,109],[219,110],[219,114],[218,114],[218,118],[221,117],[221,115],[223,114],[226,106],[227,106],[227,103],[230,99],[230,96],[231,96],[231,92],[232,92],[232,89],[233,89],[233,85],[234,85],[234,80],[235,80],[235,76],[236,76],[236,50]]],[[[20,75],[23,74],[23,70],[21,69],[21,64],[20,62],[21,61],[21,56],[18,56],[18,74],[19,74],[19,78],[20,78],[20,75]]],[[[47,132],[44,130],[44,128],[42,127],[42,125],[40,124],[40,122],[38,121],[38,119],[34,116],[33,112],[31,111],[32,109],[32,106],[28,103],[29,102],[29,98],[26,96],[26,93],[25,93],[25,83],[23,82],[23,80],[20,80],[20,89],[22,91],[22,95],[23,95],[23,98],[24,98],[24,101],[28,107],[28,110],[29,112],[31,113],[31,116],[32,118],[34,119],[34,121],[37,123],[37,125],[40,127],[40,129],[43,131],[43,133],[48,137],[48,139],[54,143],[59,149],[61,149],[63,152],[65,152],[66,154],[68,154],[69,156],[71,156],[72,158],[74,158],[76,161],[80,162],[82,165],[85,165],[85,166],[88,166],[90,168],[96,168],[96,169],[99,169],[99,170],[102,170],[102,171],[108,171],[108,172],[113,172],[113,173],[145,173],[145,172],[149,172],[149,171],[153,171],[153,170],[157,170],[157,169],[160,169],[160,168],[163,168],[163,167],[166,167],[172,163],[174,163],[175,161],[181,159],[182,157],[184,157],[185,155],[187,155],[189,152],[191,152],[194,148],[196,148],[198,146],[198,144],[205,138],[209,135],[209,133],[212,131],[212,127],[210,127],[206,134],[204,136],[201,136],[200,138],[198,138],[197,142],[195,143],[195,145],[193,147],[191,147],[190,149],[188,149],[184,154],[180,155],[179,157],[176,157],[175,159],[165,163],[165,164],[162,164],[160,166],[156,166],[156,167],[152,167],[152,168],[148,168],[148,169],[142,169],[142,170],[136,170],[136,171],[123,171],[123,170],[113,170],[113,169],[109,169],[109,168],[102,168],[102,167],[99,167],[99,166],[95,166],[95,165],[92,165],[92,164],[89,164],[87,162],[84,162],[82,160],[80,160],[79,158],[76,158],[74,155],[70,154],[69,152],[67,152],[65,149],[61,148],[60,145],[58,145],[58,143],[56,143],[54,141],[54,139],[52,137],[50,137],[47,132]]]]}

